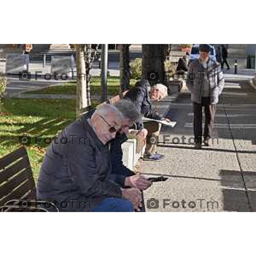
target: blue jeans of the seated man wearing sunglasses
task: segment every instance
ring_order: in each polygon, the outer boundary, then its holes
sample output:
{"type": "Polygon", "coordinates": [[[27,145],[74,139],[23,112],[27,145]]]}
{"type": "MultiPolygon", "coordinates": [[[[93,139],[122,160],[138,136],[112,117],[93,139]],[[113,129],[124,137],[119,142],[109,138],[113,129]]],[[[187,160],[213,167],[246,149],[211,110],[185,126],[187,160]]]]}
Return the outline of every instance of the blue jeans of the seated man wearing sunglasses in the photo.
{"type": "Polygon", "coordinates": [[[123,198],[105,198],[91,212],[133,212],[131,201],[123,198]]]}

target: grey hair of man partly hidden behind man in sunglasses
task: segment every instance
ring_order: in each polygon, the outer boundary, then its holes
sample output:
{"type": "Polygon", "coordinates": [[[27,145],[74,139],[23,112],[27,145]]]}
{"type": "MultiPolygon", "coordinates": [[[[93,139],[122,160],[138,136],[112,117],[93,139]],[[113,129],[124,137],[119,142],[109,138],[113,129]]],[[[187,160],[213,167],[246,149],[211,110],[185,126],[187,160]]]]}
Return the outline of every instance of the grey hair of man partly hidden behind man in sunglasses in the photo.
{"type": "Polygon", "coordinates": [[[140,118],[140,113],[134,103],[130,100],[120,99],[118,102],[114,103],[114,106],[123,114],[124,118],[127,118],[132,122],[135,122],[140,118]]]}

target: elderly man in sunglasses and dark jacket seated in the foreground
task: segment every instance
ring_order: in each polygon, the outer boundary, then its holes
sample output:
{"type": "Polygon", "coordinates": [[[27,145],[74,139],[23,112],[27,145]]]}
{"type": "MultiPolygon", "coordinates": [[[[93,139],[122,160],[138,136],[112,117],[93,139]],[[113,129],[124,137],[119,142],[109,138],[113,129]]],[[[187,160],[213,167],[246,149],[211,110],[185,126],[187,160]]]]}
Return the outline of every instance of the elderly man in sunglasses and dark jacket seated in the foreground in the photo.
{"type": "Polygon", "coordinates": [[[121,131],[124,116],[105,104],[89,119],[73,122],[44,156],[37,198],[60,211],[128,212],[141,207],[140,189],[122,188],[111,179],[108,142],[121,131]]]}

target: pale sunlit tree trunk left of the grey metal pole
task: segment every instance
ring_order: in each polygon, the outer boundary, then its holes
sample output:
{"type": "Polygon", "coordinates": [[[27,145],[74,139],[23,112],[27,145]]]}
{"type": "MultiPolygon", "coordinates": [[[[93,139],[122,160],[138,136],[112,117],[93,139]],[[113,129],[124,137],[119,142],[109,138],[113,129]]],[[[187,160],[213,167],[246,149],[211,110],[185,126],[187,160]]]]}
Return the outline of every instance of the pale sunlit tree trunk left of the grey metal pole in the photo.
{"type": "Polygon", "coordinates": [[[76,119],[79,118],[80,111],[83,108],[88,107],[87,93],[86,93],[86,68],[84,61],[84,45],[76,44],[76,119]]]}

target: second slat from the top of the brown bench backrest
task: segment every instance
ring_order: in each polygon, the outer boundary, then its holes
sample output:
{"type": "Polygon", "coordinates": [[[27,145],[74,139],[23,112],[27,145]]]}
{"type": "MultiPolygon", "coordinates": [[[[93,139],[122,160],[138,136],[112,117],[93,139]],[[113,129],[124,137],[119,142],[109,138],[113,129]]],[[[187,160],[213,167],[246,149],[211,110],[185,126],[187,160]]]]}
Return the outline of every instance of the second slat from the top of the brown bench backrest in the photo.
{"type": "Polygon", "coordinates": [[[29,167],[29,159],[21,158],[18,162],[9,168],[3,169],[2,171],[0,170],[0,184],[27,167],[29,167]]]}

